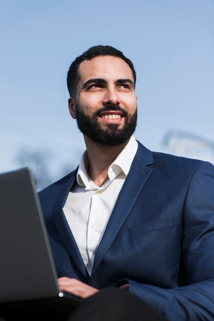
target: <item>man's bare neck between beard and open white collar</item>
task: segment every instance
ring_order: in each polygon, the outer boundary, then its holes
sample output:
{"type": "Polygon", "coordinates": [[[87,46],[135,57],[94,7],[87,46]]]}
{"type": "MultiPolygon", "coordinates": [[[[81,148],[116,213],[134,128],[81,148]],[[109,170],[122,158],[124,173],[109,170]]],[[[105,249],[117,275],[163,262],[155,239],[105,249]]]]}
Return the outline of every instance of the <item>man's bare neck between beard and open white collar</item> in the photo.
{"type": "Polygon", "coordinates": [[[129,140],[118,146],[108,146],[94,143],[84,135],[84,141],[89,158],[88,174],[97,186],[102,186],[108,179],[108,170],[129,140]]]}

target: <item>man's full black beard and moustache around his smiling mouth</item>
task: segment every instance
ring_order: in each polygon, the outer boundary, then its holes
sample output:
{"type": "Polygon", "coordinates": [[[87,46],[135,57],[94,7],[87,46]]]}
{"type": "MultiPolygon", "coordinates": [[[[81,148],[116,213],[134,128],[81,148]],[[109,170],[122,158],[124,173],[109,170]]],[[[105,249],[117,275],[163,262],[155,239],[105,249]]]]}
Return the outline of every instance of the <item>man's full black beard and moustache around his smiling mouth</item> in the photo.
{"type": "Polygon", "coordinates": [[[133,114],[130,114],[118,106],[103,107],[90,116],[85,114],[76,105],[76,119],[79,130],[90,138],[91,141],[101,145],[118,146],[127,142],[134,133],[137,126],[137,109],[133,114]],[[119,124],[106,124],[106,128],[102,128],[97,122],[99,114],[109,110],[121,111],[123,113],[125,122],[122,128],[119,128],[119,124]]]}

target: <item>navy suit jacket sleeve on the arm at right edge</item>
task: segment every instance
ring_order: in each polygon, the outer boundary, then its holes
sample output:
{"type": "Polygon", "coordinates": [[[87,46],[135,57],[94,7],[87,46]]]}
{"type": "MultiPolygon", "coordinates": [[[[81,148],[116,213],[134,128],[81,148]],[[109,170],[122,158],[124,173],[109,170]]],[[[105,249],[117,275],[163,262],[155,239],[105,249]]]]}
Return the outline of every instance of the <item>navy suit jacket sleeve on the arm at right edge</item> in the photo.
{"type": "Polygon", "coordinates": [[[214,167],[209,163],[202,163],[190,179],[183,208],[181,247],[188,285],[163,289],[130,279],[123,282],[129,283],[131,292],[169,321],[213,321],[214,167]]]}

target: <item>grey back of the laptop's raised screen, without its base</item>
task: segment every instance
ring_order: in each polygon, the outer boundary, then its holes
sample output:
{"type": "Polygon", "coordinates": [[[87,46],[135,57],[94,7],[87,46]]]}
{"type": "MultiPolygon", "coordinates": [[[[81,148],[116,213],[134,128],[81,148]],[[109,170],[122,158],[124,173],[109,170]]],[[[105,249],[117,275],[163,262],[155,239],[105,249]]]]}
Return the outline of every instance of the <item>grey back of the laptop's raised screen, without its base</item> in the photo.
{"type": "Polygon", "coordinates": [[[57,274],[29,168],[0,175],[0,303],[58,295],[57,274]]]}

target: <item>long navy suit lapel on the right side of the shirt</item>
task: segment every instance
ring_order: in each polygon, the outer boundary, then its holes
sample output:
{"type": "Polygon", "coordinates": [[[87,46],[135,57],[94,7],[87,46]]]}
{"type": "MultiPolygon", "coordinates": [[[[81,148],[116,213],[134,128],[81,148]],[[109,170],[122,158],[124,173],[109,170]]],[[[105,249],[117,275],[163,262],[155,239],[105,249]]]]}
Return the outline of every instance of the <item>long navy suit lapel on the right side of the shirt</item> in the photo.
{"type": "Polygon", "coordinates": [[[129,215],[147,178],[152,173],[153,169],[147,166],[149,164],[153,164],[152,152],[138,142],[138,150],[129,174],[118,195],[112,215],[96,250],[91,277],[94,275],[106,251],[111,246],[127,215],[129,215]]]}

